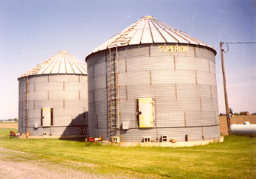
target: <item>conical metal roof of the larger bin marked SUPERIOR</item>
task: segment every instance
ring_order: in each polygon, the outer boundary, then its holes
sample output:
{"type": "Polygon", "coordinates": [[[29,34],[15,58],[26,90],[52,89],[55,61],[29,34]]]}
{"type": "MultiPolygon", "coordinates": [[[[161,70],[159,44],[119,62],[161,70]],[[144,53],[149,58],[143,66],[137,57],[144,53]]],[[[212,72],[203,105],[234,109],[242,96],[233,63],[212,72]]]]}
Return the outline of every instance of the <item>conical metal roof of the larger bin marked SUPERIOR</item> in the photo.
{"type": "Polygon", "coordinates": [[[139,21],[136,21],[130,27],[124,29],[122,32],[114,35],[109,41],[106,41],[103,45],[90,52],[89,55],[114,46],[128,46],[145,43],[189,43],[214,49],[207,43],[187,35],[186,32],[170,27],[167,24],[162,23],[162,21],[156,20],[152,16],[145,16],[140,18],[139,21]]]}

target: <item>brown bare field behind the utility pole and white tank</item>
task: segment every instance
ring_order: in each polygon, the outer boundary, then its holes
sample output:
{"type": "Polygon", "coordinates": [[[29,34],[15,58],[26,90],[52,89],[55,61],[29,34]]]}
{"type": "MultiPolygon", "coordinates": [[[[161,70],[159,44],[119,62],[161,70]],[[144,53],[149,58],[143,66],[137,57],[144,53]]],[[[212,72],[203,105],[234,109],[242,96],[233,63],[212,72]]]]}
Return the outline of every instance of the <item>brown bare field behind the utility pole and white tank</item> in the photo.
{"type": "MultiPolygon", "coordinates": [[[[221,134],[228,135],[226,116],[219,116],[219,120],[220,120],[221,134]]],[[[231,124],[243,124],[243,122],[250,122],[251,124],[256,124],[256,116],[255,115],[232,116],[231,124]]]]}

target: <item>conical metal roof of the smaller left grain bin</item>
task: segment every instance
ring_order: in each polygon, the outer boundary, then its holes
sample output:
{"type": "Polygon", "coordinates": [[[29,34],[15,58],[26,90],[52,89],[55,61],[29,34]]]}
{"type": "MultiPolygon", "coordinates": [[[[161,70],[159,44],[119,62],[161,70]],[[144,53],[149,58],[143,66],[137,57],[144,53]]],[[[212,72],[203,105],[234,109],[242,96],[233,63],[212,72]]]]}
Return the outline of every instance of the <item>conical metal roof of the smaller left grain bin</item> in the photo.
{"type": "Polygon", "coordinates": [[[21,77],[38,74],[87,74],[86,69],[86,63],[70,55],[69,52],[60,51],[48,60],[35,66],[35,68],[22,74],[21,77]]]}

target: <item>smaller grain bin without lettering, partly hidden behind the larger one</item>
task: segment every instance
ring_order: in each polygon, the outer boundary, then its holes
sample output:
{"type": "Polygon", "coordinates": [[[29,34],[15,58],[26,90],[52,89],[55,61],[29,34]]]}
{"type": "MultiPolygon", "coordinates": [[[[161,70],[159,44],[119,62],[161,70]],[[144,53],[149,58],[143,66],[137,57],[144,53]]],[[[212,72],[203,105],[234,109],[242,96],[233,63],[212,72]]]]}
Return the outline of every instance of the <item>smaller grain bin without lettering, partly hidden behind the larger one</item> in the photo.
{"type": "Polygon", "coordinates": [[[86,63],[60,51],[18,78],[18,132],[86,136],[86,63]]]}

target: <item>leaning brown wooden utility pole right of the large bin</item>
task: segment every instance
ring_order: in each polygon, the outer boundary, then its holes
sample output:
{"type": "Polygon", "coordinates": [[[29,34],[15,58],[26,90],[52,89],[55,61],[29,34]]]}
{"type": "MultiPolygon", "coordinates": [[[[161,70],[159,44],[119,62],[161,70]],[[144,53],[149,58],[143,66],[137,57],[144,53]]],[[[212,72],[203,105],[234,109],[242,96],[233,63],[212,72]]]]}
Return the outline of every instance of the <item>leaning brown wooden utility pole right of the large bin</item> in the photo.
{"type": "Polygon", "coordinates": [[[229,103],[227,101],[227,94],[226,94],[226,74],[225,74],[225,66],[224,66],[224,55],[223,55],[223,49],[222,49],[223,42],[220,42],[221,46],[221,65],[222,65],[222,74],[223,74],[223,83],[224,83],[224,96],[225,96],[225,105],[226,105],[226,123],[227,128],[229,130],[229,135],[231,134],[230,130],[230,118],[229,118],[229,103]]]}

